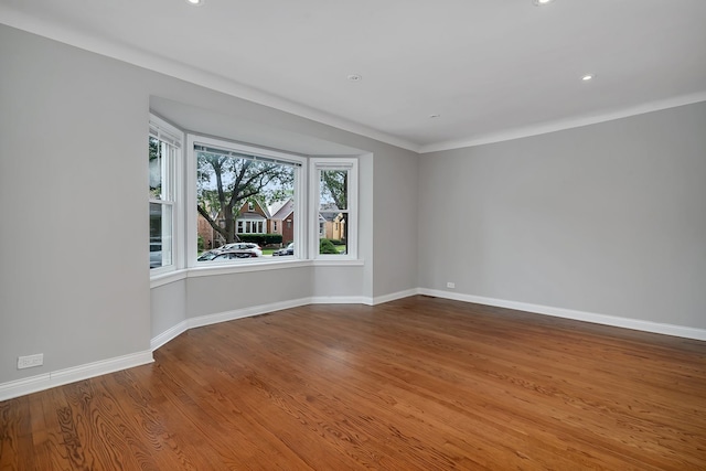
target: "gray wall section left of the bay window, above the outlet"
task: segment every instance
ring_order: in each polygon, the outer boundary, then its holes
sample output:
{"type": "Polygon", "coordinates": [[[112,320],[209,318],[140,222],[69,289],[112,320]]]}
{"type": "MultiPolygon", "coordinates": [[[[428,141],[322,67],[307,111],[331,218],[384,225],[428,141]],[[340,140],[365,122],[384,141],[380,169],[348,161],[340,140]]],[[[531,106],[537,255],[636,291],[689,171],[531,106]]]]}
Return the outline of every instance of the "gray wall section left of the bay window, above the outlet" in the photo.
{"type": "Polygon", "coordinates": [[[149,350],[139,71],[6,26],[0,57],[0,383],[149,350]]]}

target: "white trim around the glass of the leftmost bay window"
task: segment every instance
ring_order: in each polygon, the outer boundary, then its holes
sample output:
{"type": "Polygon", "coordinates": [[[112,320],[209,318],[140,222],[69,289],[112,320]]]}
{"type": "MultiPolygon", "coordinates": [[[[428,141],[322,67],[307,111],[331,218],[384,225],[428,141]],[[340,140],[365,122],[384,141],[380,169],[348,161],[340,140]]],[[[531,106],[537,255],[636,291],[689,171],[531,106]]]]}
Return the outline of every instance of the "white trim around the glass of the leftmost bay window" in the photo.
{"type": "Polygon", "coordinates": [[[149,133],[164,142],[174,147],[174,161],[171,162],[171,178],[165,179],[168,175],[162,175],[162,184],[165,180],[171,186],[173,199],[169,201],[150,199],[150,203],[168,204],[172,208],[172,264],[163,267],[157,267],[150,269],[150,277],[161,277],[167,274],[179,270],[184,267],[184,251],[183,251],[183,234],[184,234],[184,218],[183,218],[183,142],[184,132],[176,128],[171,122],[165,121],[157,115],[149,114],[149,133]]]}

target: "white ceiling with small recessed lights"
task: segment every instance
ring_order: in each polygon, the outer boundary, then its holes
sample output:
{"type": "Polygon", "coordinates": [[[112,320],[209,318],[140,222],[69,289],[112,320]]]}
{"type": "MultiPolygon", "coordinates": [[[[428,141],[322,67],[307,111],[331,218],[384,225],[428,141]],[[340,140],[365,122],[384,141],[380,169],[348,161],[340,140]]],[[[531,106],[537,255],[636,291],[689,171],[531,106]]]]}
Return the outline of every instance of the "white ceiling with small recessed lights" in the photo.
{"type": "Polygon", "coordinates": [[[706,99],[706,0],[0,0],[0,22],[420,152],[706,99]]]}

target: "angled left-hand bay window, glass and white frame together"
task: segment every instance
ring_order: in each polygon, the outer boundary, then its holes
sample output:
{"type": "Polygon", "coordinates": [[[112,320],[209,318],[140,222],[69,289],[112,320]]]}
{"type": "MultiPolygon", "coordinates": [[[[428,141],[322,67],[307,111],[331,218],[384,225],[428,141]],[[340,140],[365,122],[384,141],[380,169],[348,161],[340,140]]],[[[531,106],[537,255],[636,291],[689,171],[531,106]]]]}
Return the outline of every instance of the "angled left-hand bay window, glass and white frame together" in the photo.
{"type": "Polygon", "coordinates": [[[175,267],[178,236],[178,189],[182,132],[169,122],[150,115],[149,131],[149,217],[150,269],[153,272],[175,267]]]}

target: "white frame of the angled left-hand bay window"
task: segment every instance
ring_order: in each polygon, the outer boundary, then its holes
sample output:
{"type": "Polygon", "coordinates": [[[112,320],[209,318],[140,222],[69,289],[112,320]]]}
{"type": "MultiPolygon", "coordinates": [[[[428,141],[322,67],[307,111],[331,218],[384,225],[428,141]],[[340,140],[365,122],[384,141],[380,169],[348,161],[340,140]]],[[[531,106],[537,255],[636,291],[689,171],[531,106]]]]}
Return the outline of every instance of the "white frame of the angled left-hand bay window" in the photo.
{"type": "MultiPolygon", "coordinates": [[[[150,268],[150,278],[154,278],[158,276],[162,276],[165,274],[170,274],[176,271],[178,269],[183,267],[183,250],[181,249],[181,242],[183,239],[184,234],[184,224],[182,217],[183,207],[183,143],[184,143],[184,132],[172,125],[171,122],[160,118],[159,116],[150,113],[149,114],[149,138],[156,138],[160,140],[160,142],[164,142],[168,147],[171,148],[171,154],[167,156],[168,160],[167,164],[162,164],[160,172],[162,178],[162,197],[153,199],[149,197],[148,208],[152,204],[160,204],[162,206],[171,207],[171,222],[170,222],[170,242],[171,242],[171,255],[172,263],[170,265],[163,265],[161,267],[150,268]],[[164,169],[167,167],[167,169],[164,169]],[[164,190],[165,189],[165,190],[164,190]],[[163,197],[164,195],[169,197],[163,197]]],[[[148,150],[149,152],[149,150],[148,150]]],[[[148,180],[149,180],[149,159],[148,159],[148,180]]],[[[149,184],[148,184],[149,186],[149,184]]],[[[149,210],[151,211],[151,208],[149,210]]],[[[162,251],[164,247],[164,237],[162,235],[161,246],[162,251]]],[[[150,236],[150,248],[151,248],[151,236],[150,236]]]]}

